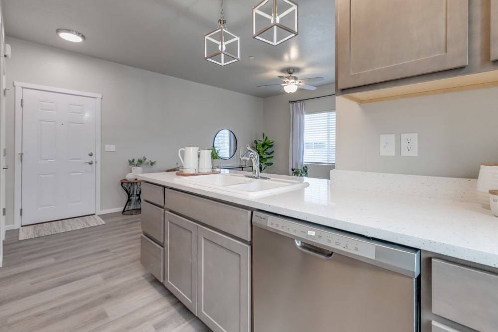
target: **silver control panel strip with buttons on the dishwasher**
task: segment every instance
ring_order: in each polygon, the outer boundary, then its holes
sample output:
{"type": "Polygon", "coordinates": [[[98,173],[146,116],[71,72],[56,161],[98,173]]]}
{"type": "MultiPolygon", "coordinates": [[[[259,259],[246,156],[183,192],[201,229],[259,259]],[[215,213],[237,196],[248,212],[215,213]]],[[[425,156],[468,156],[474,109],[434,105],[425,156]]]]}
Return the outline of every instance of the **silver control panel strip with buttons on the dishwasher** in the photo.
{"type": "Polygon", "coordinates": [[[300,237],[309,244],[319,243],[330,247],[331,250],[341,250],[365,258],[375,259],[375,244],[361,239],[273,217],[268,217],[266,226],[300,237]]]}

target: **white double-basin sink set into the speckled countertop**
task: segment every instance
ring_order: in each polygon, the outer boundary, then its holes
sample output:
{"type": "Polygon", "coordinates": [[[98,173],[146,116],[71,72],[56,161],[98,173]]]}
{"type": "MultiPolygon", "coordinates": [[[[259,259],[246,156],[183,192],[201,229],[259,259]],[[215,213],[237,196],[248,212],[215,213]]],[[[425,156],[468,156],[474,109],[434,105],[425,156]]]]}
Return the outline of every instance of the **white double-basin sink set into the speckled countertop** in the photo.
{"type": "Polygon", "coordinates": [[[296,178],[296,180],[280,178],[253,179],[235,173],[176,177],[175,181],[251,198],[280,194],[309,186],[309,183],[304,182],[302,178],[296,178]]]}

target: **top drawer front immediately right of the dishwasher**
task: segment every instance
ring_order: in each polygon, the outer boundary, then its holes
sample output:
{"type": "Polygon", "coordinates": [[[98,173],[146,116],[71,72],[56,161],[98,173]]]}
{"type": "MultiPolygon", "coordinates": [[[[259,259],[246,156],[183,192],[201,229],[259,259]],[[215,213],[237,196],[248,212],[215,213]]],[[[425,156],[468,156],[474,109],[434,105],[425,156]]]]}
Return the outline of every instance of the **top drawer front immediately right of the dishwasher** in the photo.
{"type": "Polygon", "coordinates": [[[498,275],[432,259],[432,312],[471,329],[496,331],[498,275]]]}

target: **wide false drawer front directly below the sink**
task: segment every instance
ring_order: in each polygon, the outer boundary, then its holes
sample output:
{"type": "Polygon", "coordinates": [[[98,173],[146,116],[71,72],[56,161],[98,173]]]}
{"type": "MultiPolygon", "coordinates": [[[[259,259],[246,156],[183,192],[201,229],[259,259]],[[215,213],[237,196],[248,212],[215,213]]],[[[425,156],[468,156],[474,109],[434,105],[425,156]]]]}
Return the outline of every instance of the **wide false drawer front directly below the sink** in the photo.
{"type": "Polygon", "coordinates": [[[235,235],[251,239],[251,212],[179,191],[165,190],[166,208],[193,220],[235,235]]]}

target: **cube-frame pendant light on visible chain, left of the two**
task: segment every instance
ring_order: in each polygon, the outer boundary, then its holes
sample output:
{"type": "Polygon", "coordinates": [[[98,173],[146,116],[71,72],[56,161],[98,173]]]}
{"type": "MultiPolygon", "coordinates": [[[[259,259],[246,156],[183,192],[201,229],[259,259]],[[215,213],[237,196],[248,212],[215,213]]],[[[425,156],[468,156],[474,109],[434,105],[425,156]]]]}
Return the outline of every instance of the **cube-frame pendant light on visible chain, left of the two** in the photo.
{"type": "Polygon", "coordinates": [[[241,60],[241,38],[228,31],[226,23],[222,0],[218,28],[204,35],[204,59],[220,66],[241,60]]]}

